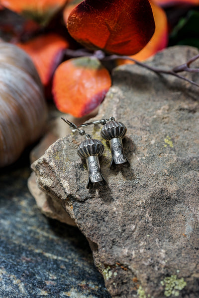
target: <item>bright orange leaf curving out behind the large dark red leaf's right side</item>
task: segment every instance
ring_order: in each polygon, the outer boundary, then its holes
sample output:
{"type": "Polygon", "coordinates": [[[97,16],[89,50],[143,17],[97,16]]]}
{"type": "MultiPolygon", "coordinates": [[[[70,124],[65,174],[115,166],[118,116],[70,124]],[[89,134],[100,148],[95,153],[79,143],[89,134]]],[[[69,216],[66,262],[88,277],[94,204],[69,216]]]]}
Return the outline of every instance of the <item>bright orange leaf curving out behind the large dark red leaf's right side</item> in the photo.
{"type": "MultiPolygon", "coordinates": [[[[151,8],[155,20],[155,32],[148,44],[137,54],[130,56],[138,61],[144,61],[155,55],[158,51],[163,50],[168,44],[168,25],[167,16],[162,8],[151,1],[151,8]]],[[[117,64],[133,64],[130,60],[117,61],[117,64]]]]}

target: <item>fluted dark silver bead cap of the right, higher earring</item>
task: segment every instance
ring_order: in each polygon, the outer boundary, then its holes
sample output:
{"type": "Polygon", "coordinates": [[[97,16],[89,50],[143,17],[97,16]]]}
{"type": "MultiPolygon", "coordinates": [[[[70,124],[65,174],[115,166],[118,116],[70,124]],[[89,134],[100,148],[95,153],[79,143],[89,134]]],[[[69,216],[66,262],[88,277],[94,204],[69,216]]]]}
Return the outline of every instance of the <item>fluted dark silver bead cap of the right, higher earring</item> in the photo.
{"type": "Polygon", "coordinates": [[[118,121],[109,121],[101,129],[101,136],[104,140],[110,141],[113,138],[123,139],[127,128],[118,121]]]}

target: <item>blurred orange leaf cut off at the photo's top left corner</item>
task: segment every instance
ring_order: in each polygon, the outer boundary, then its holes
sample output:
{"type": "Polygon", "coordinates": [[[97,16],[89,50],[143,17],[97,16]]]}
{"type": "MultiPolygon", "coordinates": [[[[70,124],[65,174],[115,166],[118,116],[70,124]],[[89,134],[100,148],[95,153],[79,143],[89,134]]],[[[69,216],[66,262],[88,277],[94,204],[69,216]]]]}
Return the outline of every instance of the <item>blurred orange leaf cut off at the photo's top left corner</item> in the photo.
{"type": "Polygon", "coordinates": [[[45,24],[67,0],[1,0],[1,5],[45,24]]]}

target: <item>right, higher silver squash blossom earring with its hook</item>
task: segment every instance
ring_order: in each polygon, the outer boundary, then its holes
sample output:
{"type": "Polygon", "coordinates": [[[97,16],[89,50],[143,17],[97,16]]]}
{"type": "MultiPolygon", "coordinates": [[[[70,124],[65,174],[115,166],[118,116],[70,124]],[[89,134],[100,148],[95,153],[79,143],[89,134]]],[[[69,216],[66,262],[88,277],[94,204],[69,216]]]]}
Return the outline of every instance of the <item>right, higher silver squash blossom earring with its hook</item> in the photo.
{"type": "Polygon", "coordinates": [[[122,139],[124,138],[127,128],[121,122],[115,121],[114,117],[109,119],[101,119],[93,122],[81,124],[80,126],[87,126],[91,124],[102,124],[101,136],[104,140],[109,141],[112,160],[110,168],[113,168],[115,164],[123,164],[124,166],[130,166],[128,159],[124,154],[122,145],[122,139]],[[106,123],[107,122],[107,123],[106,123]]]}

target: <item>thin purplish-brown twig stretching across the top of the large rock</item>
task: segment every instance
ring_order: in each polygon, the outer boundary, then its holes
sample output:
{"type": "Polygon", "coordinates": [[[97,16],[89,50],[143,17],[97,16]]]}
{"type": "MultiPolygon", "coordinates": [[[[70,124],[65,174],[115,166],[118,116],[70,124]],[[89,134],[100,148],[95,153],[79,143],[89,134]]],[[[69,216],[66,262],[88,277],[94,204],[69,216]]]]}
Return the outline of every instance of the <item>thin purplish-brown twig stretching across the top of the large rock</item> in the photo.
{"type": "Polygon", "coordinates": [[[152,67],[149,66],[148,64],[145,64],[143,62],[140,62],[136,59],[133,59],[129,56],[120,56],[120,55],[109,55],[106,56],[104,52],[102,51],[96,51],[94,53],[88,52],[87,50],[83,49],[83,50],[66,50],[66,55],[69,57],[84,57],[84,56],[89,56],[89,57],[96,57],[98,58],[100,61],[111,61],[111,60],[117,60],[117,59],[123,59],[123,60],[129,60],[129,61],[133,61],[135,64],[144,67],[156,74],[170,74],[170,75],[174,75],[178,78],[181,78],[183,80],[186,80],[188,82],[190,82],[191,84],[194,84],[195,86],[199,87],[199,84],[194,82],[193,80],[186,78],[183,75],[180,75],[178,73],[180,72],[189,72],[189,73],[199,73],[199,68],[190,68],[190,65],[196,61],[197,59],[199,59],[199,55],[194,56],[193,58],[191,58],[187,63],[184,63],[182,65],[179,65],[177,67],[174,67],[172,70],[164,70],[161,68],[156,68],[156,67],[152,67]]]}

